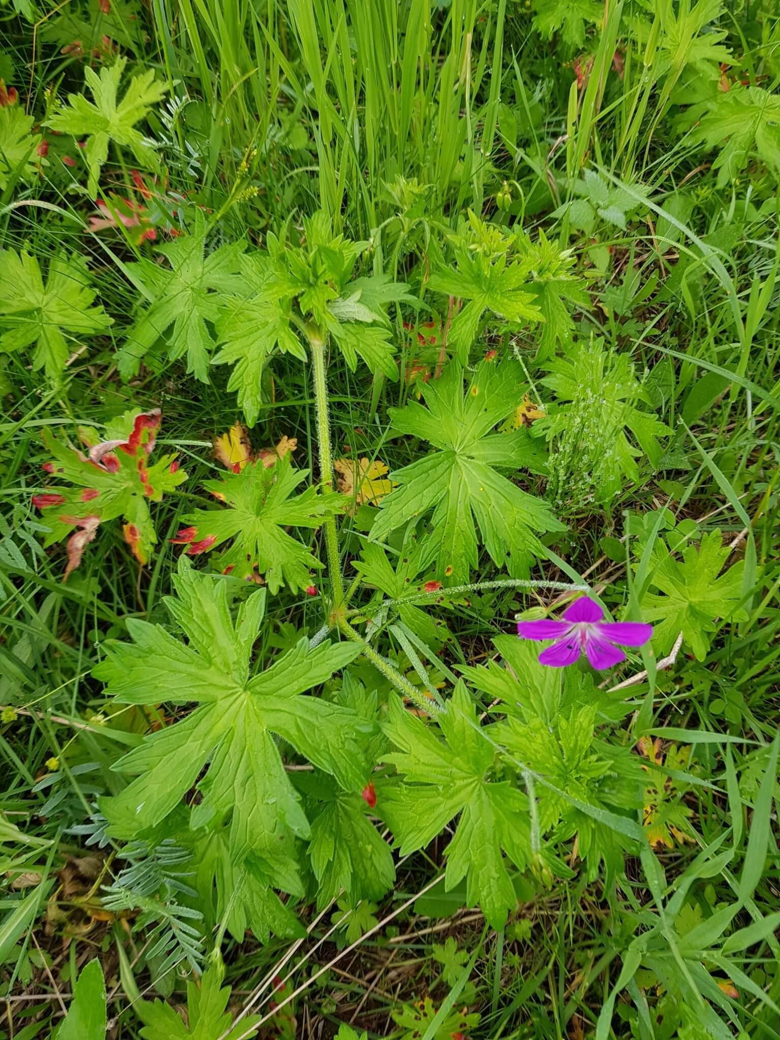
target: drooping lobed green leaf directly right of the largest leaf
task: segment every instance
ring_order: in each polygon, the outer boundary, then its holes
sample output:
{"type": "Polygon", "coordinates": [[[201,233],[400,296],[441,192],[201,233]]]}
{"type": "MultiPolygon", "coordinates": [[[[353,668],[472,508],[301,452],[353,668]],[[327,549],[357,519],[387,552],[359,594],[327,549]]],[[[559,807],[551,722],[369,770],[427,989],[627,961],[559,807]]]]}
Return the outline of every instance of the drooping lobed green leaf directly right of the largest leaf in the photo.
{"type": "Polygon", "coordinates": [[[449,891],[466,878],[468,906],[478,904],[493,928],[503,927],[517,896],[502,850],[520,869],[530,855],[525,797],[510,783],[492,780],[495,751],[478,731],[463,682],[454,687],[446,712],[437,717],[444,740],[400,700],[389,707],[384,730],[399,750],[385,758],[405,780],[382,786],[378,810],[404,856],[424,848],[460,813],[444,852],[445,887],[449,891]]]}

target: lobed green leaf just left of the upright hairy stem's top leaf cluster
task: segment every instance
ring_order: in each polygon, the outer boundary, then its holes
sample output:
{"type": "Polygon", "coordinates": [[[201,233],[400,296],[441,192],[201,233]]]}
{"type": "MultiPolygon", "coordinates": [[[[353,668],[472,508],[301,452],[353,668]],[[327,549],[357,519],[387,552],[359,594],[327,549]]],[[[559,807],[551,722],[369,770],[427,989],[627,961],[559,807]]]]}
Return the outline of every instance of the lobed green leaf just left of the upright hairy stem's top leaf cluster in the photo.
{"type": "Polygon", "coordinates": [[[228,242],[212,253],[206,246],[206,222],[196,210],[192,234],[160,245],[155,252],[170,263],[141,259],[130,268],[153,296],[140,303],[137,319],[127,334],[116,364],[123,379],[136,375],[144,356],[171,329],[167,353],[172,361],[187,357],[187,372],[208,383],[214,341],[207,322],[222,315],[220,293],[236,289],[242,243],[228,242]],[[173,326],[173,329],[172,329],[173,326]]]}

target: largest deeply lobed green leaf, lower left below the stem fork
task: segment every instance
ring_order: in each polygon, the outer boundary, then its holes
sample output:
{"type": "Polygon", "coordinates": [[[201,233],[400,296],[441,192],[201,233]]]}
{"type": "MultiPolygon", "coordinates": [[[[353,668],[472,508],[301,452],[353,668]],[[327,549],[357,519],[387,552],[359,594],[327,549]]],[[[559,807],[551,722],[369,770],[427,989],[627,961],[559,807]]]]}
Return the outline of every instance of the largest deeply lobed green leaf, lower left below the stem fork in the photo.
{"type": "Polygon", "coordinates": [[[159,625],[130,620],[133,642],[107,645],[107,659],[95,675],[107,683],[108,696],[126,704],[198,706],[115,763],[113,769],[136,779],[120,795],[102,800],[101,811],[110,832],[129,839],[163,821],[197,785],[202,800],[190,826],[230,820],[233,861],[253,857],[253,869],[263,874],[267,864],[289,880],[278,858],[280,839],[291,834],[308,838],[311,829],[275,734],[344,789],[362,788],[367,766],[359,734],[370,730],[370,724],[348,708],[302,696],[354,660],[361,645],[321,643],[312,648],[302,639],[253,676],[252,649],[265,590],[254,593],[233,622],[225,582],[198,574],[185,558],[175,587],[177,596],[165,604],[188,642],[159,625]]]}

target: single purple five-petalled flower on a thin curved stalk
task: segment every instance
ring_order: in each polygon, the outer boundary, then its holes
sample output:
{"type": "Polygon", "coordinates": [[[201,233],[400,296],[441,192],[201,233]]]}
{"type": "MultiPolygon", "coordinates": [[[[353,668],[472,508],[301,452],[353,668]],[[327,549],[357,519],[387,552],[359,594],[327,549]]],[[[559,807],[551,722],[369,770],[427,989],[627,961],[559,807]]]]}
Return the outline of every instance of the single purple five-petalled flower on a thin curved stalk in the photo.
{"type": "Polygon", "coordinates": [[[541,665],[565,668],[584,652],[600,671],[626,659],[620,647],[641,647],[653,634],[652,625],[636,621],[602,621],[604,612],[588,596],[575,599],[563,621],[518,621],[525,640],[554,640],[539,655],[541,665]]]}

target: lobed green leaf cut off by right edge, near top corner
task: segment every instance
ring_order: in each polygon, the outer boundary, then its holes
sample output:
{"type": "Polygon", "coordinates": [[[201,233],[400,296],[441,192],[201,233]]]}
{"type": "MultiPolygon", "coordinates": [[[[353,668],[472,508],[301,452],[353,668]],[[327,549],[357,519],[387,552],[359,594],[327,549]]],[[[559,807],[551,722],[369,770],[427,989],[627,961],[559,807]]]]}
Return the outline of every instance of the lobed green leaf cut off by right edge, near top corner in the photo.
{"type": "Polygon", "coordinates": [[[711,100],[694,107],[696,112],[685,115],[687,121],[699,116],[693,141],[720,150],[712,164],[718,187],[733,181],[756,153],[780,176],[780,98],[776,93],[737,85],[725,93],[718,90],[711,100]]]}

